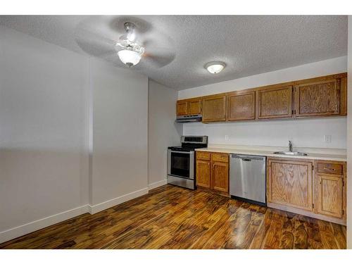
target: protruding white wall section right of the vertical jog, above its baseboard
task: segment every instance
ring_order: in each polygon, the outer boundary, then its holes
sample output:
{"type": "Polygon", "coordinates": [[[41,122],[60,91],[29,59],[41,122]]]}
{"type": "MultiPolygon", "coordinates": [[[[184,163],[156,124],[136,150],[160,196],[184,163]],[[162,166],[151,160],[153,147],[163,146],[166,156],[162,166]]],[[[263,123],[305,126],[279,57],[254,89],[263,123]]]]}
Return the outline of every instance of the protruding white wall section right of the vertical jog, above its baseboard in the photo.
{"type": "Polygon", "coordinates": [[[148,78],[92,61],[94,206],[148,187],[148,78]]]}

